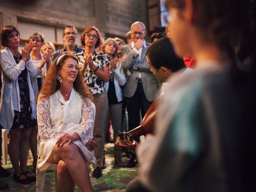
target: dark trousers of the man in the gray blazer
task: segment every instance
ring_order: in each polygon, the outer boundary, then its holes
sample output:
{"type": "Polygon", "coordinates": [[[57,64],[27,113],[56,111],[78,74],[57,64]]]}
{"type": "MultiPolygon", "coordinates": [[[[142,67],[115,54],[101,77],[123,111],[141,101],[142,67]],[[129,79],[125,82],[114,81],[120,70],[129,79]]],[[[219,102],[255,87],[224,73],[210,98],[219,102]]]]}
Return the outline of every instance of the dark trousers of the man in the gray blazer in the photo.
{"type": "MultiPolygon", "coordinates": [[[[142,86],[142,82],[138,82],[137,89],[132,97],[126,98],[129,131],[140,125],[141,116],[144,118],[153,101],[148,101],[142,86]]],[[[136,139],[137,140],[137,139],[136,139]]],[[[138,141],[138,140],[137,140],[138,141]]]]}

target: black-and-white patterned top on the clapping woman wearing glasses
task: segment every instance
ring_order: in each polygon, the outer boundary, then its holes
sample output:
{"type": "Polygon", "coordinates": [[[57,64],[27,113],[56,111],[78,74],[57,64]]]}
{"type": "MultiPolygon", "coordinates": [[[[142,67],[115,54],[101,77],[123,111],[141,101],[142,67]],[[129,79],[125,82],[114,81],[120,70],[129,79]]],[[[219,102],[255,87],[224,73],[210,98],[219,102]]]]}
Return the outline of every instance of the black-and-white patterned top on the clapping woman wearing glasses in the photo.
{"type": "MultiPolygon", "coordinates": [[[[78,65],[81,68],[86,58],[84,51],[77,53],[74,56],[78,58],[78,65]]],[[[110,64],[110,59],[108,55],[97,50],[95,50],[92,55],[92,61],[93,64],[98,66],[100,70],[102,70],[103,67],[108,67],[110,64]]],[[[87,66],[83,76],[89,90],[92,92],[93,95],[105,91],[105,83],[95,74],[95,72],[89,66],[87,66]]]]}

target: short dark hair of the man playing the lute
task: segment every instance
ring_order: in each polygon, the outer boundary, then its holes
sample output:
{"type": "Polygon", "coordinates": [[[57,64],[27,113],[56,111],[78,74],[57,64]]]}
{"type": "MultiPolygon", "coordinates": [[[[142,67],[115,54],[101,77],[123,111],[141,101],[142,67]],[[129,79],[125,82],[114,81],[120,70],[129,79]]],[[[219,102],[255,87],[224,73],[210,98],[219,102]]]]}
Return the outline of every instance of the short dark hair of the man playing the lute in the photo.
{"type": "Polygon", "coordinates": [[[178,58],[174,53],[168,37],[161,38],[150,44],[146,51],[146,56],[148,56],[152,66],[157,70],[163,66],[171,72],[175,72],[186,67],[183,59],[178,58]]]}

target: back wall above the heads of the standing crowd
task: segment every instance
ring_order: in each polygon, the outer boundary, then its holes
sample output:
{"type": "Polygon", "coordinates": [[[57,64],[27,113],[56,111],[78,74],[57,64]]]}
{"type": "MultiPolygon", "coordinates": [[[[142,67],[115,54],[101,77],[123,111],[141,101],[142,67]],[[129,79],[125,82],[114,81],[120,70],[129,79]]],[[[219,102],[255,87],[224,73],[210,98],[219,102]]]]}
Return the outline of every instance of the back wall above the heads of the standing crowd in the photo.
{"type": "Polygon", "coordinates": [[[124,37],[135,21],[147,22],[147,0],[1,0],[2,27],[33,22],[63,28],[74,24],[80,32],[88,26],[101,35],[124,37]]]}

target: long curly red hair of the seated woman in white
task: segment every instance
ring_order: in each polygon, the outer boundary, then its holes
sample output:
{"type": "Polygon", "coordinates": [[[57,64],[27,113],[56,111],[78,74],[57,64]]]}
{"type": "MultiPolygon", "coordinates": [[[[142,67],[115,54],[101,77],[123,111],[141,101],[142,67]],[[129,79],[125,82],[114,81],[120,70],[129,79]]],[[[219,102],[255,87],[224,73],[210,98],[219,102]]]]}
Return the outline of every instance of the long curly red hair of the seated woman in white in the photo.
{"type": "MultiPolygon", "coordinates": [[[[72,58],[76,60],[78,63],[78,60],[76,57],[74,57],[72,54],[65,54],[60,61],[58,62],[58,65],[56,65],[56,62],[60,56],[58,56],[54,62],[51,64],[50,68],[47,70],[47,76],[45,78],[44,84],[42,86],[42,89],[38,93],[41,94],[41,98],[49,98],[52,94],[54,94],[59,88],[60,88],[60,82],[57,80],[57,75],[60,69],[62,68],[64,62],[68,58],[72,58]]],[[[84,82],[83,76],[80,74],[80,68],[78,66],[78,74],[76,76],[76,79],[73,83],[74,89],[82,96],[82,98],[89,97],[93,102],[92,94],[84,82]]],[[[37,98],[38,100],[38,98],[37,98]]]]}

